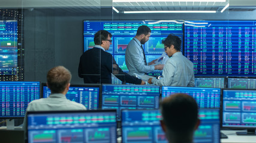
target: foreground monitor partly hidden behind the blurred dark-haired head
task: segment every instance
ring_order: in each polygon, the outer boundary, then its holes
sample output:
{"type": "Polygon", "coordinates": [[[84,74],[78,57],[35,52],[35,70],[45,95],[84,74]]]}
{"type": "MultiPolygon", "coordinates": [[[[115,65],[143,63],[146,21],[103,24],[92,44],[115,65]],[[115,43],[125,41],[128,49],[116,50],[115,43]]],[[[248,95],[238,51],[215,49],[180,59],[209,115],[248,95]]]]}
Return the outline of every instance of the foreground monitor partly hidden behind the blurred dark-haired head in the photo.
{"type": "MultiPolygon", "coordinates": [[[[219,143],[219,109],[199,110],[200,126],[194,133],[194,142],[219,143]]],[[[122,110],[122,142],[167,143],[162,131],[159,110],[122,110]]]]}

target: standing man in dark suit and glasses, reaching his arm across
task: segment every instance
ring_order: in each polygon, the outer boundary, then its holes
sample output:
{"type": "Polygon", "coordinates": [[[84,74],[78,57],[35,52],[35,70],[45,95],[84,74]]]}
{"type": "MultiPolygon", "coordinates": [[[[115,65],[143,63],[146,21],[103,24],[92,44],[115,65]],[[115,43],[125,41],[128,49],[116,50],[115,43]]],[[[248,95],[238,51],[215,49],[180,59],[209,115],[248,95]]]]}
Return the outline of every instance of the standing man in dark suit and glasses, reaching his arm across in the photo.
{"type": "Polygon", "coordinates": [[[94,35],[95,46],[84,52],[79,62],[79,77],[84,83],[112,83],[113,73],[122,82],[144,85],[144,81],[122,71],[113,56],[106,52],[112,44],[112,35],[106,30],[99,30],[94,35]]]}

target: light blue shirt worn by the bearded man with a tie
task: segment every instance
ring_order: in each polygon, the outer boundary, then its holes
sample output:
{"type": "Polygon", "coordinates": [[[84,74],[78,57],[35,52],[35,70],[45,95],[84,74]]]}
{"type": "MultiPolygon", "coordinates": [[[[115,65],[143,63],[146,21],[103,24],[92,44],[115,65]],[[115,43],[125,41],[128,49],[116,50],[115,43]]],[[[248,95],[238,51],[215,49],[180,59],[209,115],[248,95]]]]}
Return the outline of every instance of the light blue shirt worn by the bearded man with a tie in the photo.
{"type": "Polygon", "coordinates": [[[132,76],[135,76],[134,73],[143,76],[144,73],[149,73],[155,69],[155,66],[145,65],[141,43],[137,38],[133,38],[127,45],[125,63],[127,63],[129,74],[132,76]]]}

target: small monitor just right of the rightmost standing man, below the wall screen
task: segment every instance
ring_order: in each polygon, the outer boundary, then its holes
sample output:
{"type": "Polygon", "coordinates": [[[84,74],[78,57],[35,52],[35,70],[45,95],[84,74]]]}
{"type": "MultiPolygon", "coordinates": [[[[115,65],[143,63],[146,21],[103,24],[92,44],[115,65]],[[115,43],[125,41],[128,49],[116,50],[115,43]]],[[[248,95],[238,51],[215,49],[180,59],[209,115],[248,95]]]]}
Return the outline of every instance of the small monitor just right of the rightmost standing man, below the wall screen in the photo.
{"type": "Polygon", "coordinates": [[[195,77],[197,88],[226,88],[225,77],[195,77]]]}

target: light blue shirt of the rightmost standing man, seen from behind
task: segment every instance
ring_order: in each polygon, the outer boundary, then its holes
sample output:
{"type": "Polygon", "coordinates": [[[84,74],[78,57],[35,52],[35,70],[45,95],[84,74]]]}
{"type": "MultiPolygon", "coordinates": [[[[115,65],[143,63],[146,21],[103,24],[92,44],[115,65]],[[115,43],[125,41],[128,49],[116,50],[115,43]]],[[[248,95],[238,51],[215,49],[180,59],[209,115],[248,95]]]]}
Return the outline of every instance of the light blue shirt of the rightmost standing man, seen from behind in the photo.
{"type": "Polygon", "coordinates": [[[162,79],[152,79],[152,83],[162,86],[195,86],[194,65],[181,52],[176,52],[167,60],[162,71],[162,79]]]}

